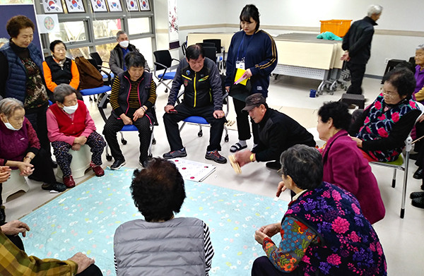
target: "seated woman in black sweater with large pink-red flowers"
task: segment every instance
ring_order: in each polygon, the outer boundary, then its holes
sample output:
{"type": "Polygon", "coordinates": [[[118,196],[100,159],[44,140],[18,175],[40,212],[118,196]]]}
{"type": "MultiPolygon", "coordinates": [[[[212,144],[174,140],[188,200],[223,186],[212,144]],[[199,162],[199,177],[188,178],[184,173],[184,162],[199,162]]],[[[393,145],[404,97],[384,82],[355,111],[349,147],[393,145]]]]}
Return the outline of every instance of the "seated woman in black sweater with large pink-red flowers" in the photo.
{"type": "Polygon", "coordinates": [[[416,80],[409,69],[395,68],[384,75],[383,81],[377,99],[356,115],[349,128],[352,139],[370,162],[396,160],[421,114],[417,102],[411,99],[416,80]]]}

